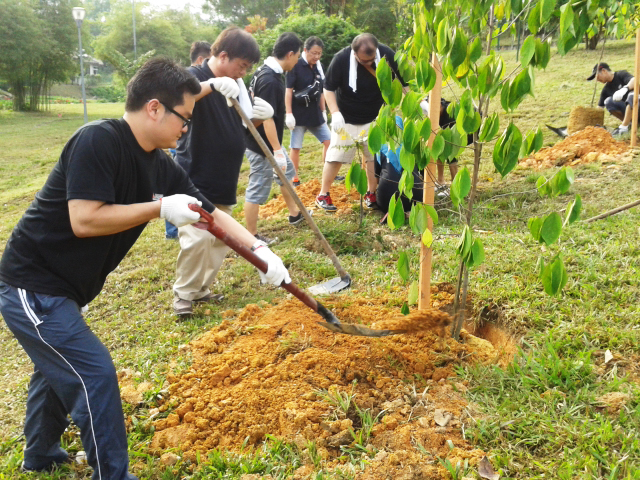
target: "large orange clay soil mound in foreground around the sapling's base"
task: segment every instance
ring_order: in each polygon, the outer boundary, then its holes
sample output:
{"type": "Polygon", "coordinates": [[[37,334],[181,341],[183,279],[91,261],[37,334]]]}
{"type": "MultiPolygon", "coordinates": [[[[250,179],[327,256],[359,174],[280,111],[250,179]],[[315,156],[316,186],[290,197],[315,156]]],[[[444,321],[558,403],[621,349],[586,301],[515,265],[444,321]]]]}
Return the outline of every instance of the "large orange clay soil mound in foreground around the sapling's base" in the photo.
{"type": "MultiPolygon", "coordinates": [[[[191,369],[169,375],[170,397],[160,408],[168,416],[154,423],[152,451],[178,448],[194,460],[214,448],[259,446],[270,434],[303,452],[315,442],[325,468],[350,468],[340,457],[354,446],[350,429],[362,426],[357,405],[378,421],[363,445],[372,452],[369,465],[356,478],[446,478],[438,457],[475,465],[484,452],[464,439],[462,425],[478,413],[454,367],[495,363],[500,352],[464,330],[463,343],[440,336],[450,317],[437,309],[450,306],[452,291],[433,286],[433,309],[408,317],[398,317],[397,294],[323,300],[344,323],[413,332],[383,338],[333,334],[296,299],[225,312],[227,319],[191,342],[191,369]],[[346,413],[328,401],[338,392],[355,395],[346,413]],[[445,425],[443,417],[450,417],[445,425]]],[[[307,470],[310,459],[295,478],[307,470]]]]}

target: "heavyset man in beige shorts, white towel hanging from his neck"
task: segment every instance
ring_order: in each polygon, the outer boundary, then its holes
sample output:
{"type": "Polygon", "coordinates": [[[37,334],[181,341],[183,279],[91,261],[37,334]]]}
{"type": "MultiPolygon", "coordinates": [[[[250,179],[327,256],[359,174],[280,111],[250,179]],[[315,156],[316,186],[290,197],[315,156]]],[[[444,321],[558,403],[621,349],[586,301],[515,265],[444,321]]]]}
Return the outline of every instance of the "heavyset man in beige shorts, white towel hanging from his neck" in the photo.
{"type": "Polygon", "coordinates": [[[384,103],[376,79],[376,66],[384,56],[394,72],[398,65],[395,52],[378,43],[375,36],[362,33],[353,39],[351,46],[338,52],[327,70],[324,95],[331,112],[331,143],[322,170],[322,186],[316,197],[316,205],[327,212],[335,212],[330,195],[333,179],[342,164],[350,164],[355,156],[355,143],[363,145],[366,162],[367,208],[376,208],[376,187],[373,156],[366,146],[369,124],[375,120],[384,103]]]}

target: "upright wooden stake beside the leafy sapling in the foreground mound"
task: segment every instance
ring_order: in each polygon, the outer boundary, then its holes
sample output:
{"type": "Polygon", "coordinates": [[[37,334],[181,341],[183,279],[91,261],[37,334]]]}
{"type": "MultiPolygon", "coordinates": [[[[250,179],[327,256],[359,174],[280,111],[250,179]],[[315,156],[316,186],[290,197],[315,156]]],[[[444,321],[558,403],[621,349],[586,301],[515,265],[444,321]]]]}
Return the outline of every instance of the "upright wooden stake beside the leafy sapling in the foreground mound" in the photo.
{"type": "MultiPolygon", "coordinates": [[[[431,66],[436,71],[436,84],[429,94],[429,120],[431,120],[431,135],[427,145],[431,147],[436,138],[434,133],[440,128],[440,98],[442,96],[442,71],[440,62],[434,53],[431,57],[431,66]]],[[[422,201],[425,205],[433,206],[435,197],[435,178],[436,163],[429,162],[427,168],[424,169],[424,190],[422,201]]],[[[428,219],[429,230],[433,233],[433,220],[431,216],[428,219]]],[[[420,295],[418,297],[418,308],[424,309],[431,306],[431,248],[427,248],[424,243],[420,242],[420,295]]]]}

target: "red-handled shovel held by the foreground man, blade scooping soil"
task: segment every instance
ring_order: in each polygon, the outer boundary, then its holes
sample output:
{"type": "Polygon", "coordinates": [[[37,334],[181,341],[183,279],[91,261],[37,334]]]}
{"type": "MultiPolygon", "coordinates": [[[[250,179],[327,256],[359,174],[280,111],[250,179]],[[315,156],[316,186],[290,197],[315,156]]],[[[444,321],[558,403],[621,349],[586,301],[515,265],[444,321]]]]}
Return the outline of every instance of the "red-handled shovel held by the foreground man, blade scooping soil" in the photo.
{"type": "MultiPolygon", "coordinates": [[[[258,270],[263,273],[267,272],[267,262],[253,253],[250,248],[241,244],[236,238],[232,237],[222,228],[217,226],[213,222],[213,217],[209,212],[203,210],[202,207],[199,207],[198,205],[189,205],[189,208],[194,212],[198,212],[200,216],[207,222],[207,230],[209,231],[209,233],[222,240],[229,248],[235,250],[238,255],[251,262],[258,270]]],[[[373,330],[363,325],[340,323],[333,312],[327,309],[327,307],[322,305],[311,295],[305,293],[300,287],[294,285],[293,282],[282,282],[280,286],[297,297],[307,307],[309,307],[311,310],[325,319],[326,322],[318,322],[318,324],[322,325],[325,328],[328,328],[332,332],[344,333],[347,335],[357,335],[361,337],[386,337],[387,335],[404,333],[404,330],[373,330]]]]}

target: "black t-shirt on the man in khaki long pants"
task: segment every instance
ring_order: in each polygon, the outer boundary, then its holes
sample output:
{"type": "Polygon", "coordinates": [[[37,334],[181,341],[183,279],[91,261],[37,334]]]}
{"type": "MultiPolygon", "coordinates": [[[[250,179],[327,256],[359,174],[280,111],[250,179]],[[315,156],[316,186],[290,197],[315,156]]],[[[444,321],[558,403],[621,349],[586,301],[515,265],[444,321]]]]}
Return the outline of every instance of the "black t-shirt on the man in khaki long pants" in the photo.
{"type": "MultiPolygon", "coordinates": [[[[205,63],[189,67],[199,81],[215,77],[205,63]]],[[[176,161],[211,203],[237,203],[238,177],[244,159],[246,129],[220,92],[196,102],[189,131],[178,141],[176,161]]]]}

